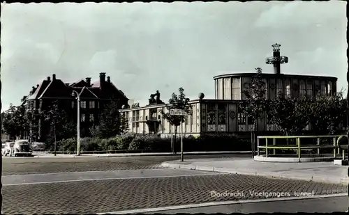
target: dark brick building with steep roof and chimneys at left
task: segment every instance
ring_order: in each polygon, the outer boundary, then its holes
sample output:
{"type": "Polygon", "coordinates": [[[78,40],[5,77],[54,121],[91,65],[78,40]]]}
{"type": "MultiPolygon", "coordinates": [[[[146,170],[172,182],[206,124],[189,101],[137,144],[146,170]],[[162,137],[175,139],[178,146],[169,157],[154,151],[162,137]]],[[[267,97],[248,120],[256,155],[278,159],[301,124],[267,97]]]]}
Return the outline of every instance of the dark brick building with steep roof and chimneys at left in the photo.
{"type": "MultiPolygon", "coordinates": [[[[27,109],[45,111],[54,101],[58,101],[60,109],[64,109],[74,122],[77,120],[77,99],[73,91],[80,95],[80,130],[88,132],[92,125],[98,125],[98,115],[105,104],[114,101],[118,106],[128,104],[128,98],[111,81],[110,77],[105,79],[105,73],[99,74],[99,80],[91,82],[91,78],[81,79],[73,83],[65,83],[57,79],[55,74],[41,81],[36,87],[33,86],[29,95],[21,100],[27,109]]],[[[38,122],[38,141],[43,141],[43,119],[38,122]]],[[[24,137],[29,136],[24,132],[24,137]]]]}

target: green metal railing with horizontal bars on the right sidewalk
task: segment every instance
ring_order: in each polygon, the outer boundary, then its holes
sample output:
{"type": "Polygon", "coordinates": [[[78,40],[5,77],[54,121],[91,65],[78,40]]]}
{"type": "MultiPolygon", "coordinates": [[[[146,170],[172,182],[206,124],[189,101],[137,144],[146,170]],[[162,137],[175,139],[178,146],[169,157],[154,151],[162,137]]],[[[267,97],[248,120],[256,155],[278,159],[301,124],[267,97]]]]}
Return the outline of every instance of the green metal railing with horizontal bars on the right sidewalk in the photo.
{"type": "MultiPolygon", "coordinates": [[[[258,136],[257,137],[257,155],[259,156],[261,154],[261,150],[264,150],[265,157],[269,156],[268,151],[273,150],[271,153],[272,155],[276,155],[276,150],[296,150],[297,151],[297,157],[300,159],[302,150],[316,150],[317,153],[313,154],[320,154],[320,149],[332,149],[333,151],[333,157],[336,158],[337,154],[341,154],[342,158],[345,159],[345,152],[344,150],[341,150],[339,148],[339,140],[342,138],[342,135],[327,135],[327,136],[258,136]],[[316,144],[301,144],[301,139],[316,139],[316,144]],[[331,138],[330,141],[331,144],[321,144],[321,141],[325,138],[331,138]],[[260,144],[260,140],[265,140],[265,145],[260,144]],[[287,145],[277,145],[276,140],[277,139],[283,139],[288,142],[287,145]],[[292,141],[291,141],[292,140],[292,141]],[[293,143],[295,141],[295,144],[293,143]],[[291,144],[289,144],[292,142],[291,144]],[[341,153],[342,151],[342,153],[341,153]]],[[[280,142],[280,141],[279,141],[280,142]]],[[[309,143],[309,142],[308,142],[309,143]]],[[[314,141],[315,143],[315,141],[314,141]]],[[[332,154],[332,153],[331,153],[332,154]]]]}

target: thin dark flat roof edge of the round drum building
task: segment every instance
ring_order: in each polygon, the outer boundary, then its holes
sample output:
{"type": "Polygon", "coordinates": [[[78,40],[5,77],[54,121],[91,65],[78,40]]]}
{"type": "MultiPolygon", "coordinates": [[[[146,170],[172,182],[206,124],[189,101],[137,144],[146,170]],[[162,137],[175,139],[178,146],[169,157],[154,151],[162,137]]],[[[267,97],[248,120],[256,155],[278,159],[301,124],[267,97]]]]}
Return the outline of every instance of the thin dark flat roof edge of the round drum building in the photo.
{"type": "MultiPolygon", "coordinates": [[[[231,74],[220,74],[214,77],[214,80],[228,77],[253,77],[256,73],[231,73],[231,74]]],[[[262,77],[293,77],[293,78],[307,78],[307,79],[330,79],[337,81],[336,77],[329,76],[318,76],[318,75],[304,75],[304,74],[274,74],[274,73],[262,73],[262,77]]]]}

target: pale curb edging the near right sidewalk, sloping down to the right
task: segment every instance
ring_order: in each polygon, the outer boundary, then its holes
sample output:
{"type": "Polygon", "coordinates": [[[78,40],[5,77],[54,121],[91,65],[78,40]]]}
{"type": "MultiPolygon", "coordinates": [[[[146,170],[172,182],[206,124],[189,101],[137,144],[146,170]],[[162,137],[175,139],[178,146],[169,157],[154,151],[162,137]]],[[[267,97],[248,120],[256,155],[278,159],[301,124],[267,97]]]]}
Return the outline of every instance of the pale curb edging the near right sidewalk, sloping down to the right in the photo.
{"type": "Polygon", "coordinates": [[[193,164],[174,164],[171,162],[163,162],[161,166],[166,168],[182,168],[188,170],[203,170],[211,171],[217,173],[231,173],[239,175],[253,175],[253,176],[262,176],[262,177],[272,177],[276,179],[288,179],[288,180],[304,180],[304,181],[313,181],[313,182],[322,182],[330,184],[348,184],[348,177],[324,177],[319,175],[309,175],[309,174],[283,174],[274,172],[258,172],[257,170],[250,169],[237,169],[237,168],[223,168],[223,167],[213,167],[213,166],[195,166],[193,164]]]}

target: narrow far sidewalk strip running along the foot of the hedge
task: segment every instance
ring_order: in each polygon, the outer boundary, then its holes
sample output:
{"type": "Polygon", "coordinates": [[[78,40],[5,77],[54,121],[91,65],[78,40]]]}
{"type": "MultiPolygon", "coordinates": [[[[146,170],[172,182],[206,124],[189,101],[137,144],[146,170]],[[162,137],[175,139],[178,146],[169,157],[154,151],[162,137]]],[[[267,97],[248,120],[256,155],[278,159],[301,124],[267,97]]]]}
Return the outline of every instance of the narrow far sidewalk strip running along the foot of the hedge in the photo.
{"type": "MultiPolygon", "coordinates": [[[[220,152],[184,152],[184,155],[205,155],[205,154],[251,154],[251,151],[220,151],[220,152]]],[[[172,152],[144,152],[144,153],[114,153],[114,154],[48,154],[45,152],[33,152],[34,157],[41,158],[52,158],[52,157],[75,157],[75,158],[86,158],[86,157],[144,157],[144,156],[180,156],[180,152],[173,154],[172,152]]]]}

